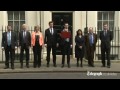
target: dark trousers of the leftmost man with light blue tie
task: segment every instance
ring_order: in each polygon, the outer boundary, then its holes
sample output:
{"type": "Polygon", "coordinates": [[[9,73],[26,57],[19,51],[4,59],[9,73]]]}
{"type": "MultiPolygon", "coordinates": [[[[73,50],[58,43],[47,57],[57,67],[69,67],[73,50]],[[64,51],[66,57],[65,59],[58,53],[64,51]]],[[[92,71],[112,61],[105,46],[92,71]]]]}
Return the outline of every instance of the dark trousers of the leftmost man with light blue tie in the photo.
{"type": "Polygon", "coordinates": [[[15,60],[15,49],[12,49],[11,46],[7,46],[5,49],[5,66],[9,67],[9,56],[11,59],[11,67],[14,67],[14,60],[15,60]]]}

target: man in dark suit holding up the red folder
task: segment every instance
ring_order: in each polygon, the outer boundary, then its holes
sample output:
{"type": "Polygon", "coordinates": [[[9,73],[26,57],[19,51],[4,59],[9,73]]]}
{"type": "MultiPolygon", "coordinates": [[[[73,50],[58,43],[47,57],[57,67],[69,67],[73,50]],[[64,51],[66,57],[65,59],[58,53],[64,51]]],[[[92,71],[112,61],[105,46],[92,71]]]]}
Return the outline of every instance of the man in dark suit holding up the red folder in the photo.
{"type": "Polygon", "coordinates": [[[62,32],[69,32],[70,37],[69,38],[62,38],[61,37],[61,51],[62,51],[62,68],[64,67],[65,64],[65,55],[67,55],[67,64],[68,68],[70,68],[70,50],[72,48],[72,34],[71,31],[69,30],[69,24],[65,23],[64,24],[64,29],[62,32]]]}

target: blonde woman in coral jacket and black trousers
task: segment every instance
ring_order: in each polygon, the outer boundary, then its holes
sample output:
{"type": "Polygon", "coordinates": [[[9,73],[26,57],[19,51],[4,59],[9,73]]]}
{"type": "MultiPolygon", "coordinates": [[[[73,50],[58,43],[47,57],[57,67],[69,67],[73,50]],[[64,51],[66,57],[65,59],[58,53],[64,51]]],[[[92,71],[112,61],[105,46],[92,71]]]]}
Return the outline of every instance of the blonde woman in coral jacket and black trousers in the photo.
{"type": "Polygon", "coordinates": [[[40,32],[40,26],[37,25],[34,27],[34,32],[31,35],[31,46],[33,47],[34,53],[34,68],[41,67],[41,50],[42,45],[44,44],[44,38],[40,32]]]}

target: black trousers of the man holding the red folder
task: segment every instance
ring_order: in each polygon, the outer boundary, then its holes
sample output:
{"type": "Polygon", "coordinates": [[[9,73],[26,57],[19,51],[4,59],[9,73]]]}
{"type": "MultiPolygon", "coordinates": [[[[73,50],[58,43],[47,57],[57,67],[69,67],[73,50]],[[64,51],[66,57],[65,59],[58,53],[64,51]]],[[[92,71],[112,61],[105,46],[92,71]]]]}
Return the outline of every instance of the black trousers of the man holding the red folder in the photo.
{"type": "Polygon", "coordinates": [[[65,64],[65,55],[67,55],[67,64],[70,64],[70,44],[65,42],[62,46],[62,64],[65,64]]]}

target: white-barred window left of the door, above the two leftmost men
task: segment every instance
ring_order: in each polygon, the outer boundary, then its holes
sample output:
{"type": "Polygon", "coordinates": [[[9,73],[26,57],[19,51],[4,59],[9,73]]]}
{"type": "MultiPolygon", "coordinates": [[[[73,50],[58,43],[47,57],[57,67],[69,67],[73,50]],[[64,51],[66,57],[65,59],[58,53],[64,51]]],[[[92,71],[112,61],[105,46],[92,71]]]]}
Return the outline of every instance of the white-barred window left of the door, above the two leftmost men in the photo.
{"type": "Polygon", "coordinates": [[[8,11],[8,25],[11,25],[13,30],[20,30],[24,23],[25,11],[8,11]]]}

